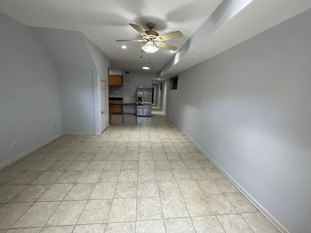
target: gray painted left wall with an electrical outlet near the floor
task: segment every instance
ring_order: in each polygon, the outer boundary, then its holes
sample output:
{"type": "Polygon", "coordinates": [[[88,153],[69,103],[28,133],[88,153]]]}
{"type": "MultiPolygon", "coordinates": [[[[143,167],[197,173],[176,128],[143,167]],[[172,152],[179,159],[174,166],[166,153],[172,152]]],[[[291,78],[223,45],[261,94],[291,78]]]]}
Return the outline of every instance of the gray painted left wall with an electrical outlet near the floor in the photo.
{"type": "Polygon", "coordinates": [[[2,13],[0,32],[1,165],[62,133],[63,128],[52,60],[28,27],[2,13]],[[18,146],[11,148],[15,141],[18,146]]]}

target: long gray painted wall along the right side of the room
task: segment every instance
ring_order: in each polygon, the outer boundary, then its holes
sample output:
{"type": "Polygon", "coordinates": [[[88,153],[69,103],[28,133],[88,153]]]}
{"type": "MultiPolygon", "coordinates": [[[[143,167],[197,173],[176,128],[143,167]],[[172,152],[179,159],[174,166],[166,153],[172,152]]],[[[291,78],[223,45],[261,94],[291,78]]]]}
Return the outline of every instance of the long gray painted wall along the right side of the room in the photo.
{"type": "Polygon", "coordinates": [[[291,233],[311,229],[310,22],[308,10],[160,92],[168,116],[291,233]]]}

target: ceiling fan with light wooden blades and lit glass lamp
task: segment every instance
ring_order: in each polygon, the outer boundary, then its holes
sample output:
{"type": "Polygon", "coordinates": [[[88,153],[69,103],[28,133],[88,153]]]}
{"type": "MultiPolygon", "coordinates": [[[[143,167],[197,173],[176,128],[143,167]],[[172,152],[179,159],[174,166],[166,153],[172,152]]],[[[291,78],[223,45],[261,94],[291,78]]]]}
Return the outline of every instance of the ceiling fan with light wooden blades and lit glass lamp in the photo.
{"type": "Polygon", "coordinates": [[[166,44],[162,41],[165,40],[171,40],[178,37],[182,37],[183,33],[180,31],[176,31],[173,33],[167,33],[163,35],[159,35],[159,33],[153,31],[152,29],[155,27],[155,23],[149,22],[147,23],[147,27],[149,28],[148,31],[143,31],[137,24],[130,23],[130,25],[139,33],[142,35],[142,39],[140,40],[116,40],[116,41],[136,41],[136,42],[142,42],[140,43],[141,49],[145,52],[156,52],[159,50],[159,47],[167,49],[167,50],[177,50],[177,47],[173,45],[166,44]],[[143,42],[146,42],[145,44],[143,42]]]}

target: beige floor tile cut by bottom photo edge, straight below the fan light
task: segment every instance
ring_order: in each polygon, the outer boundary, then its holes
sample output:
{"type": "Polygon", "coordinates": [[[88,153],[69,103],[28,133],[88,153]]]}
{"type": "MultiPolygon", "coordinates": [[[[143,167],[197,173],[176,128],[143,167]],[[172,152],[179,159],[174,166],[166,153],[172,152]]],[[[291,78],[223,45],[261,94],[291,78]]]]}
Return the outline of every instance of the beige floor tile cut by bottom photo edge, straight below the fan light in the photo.
{"type": "Polygon", "coordinates": [[[136,233],[166,233],[163,219],[137,221],[136,233]]]}

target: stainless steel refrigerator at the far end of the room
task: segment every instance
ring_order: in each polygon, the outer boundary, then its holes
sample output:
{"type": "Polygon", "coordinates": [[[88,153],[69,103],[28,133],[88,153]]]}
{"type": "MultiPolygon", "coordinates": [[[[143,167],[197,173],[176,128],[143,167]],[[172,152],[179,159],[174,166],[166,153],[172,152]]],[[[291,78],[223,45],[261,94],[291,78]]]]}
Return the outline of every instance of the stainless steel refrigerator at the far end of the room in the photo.
{"type": "Polygon", "coordinates": [[[137,106],[137,116],[151,116],[152,87],[138,86],[136,101],[143,103],[142,106],[137,106]]]}

